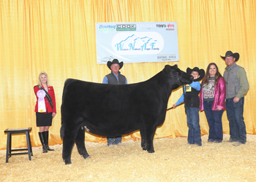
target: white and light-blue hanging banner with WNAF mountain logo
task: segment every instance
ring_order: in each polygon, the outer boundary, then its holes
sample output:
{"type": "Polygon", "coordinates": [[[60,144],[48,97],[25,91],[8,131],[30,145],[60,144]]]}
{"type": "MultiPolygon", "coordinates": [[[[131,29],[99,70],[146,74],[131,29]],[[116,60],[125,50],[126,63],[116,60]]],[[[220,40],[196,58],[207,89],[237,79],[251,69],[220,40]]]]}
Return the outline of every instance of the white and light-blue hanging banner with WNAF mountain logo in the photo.
{"type": "Polygon", "coordinates": [[[96,23],[97,63],[178,61],[176,22],[96,23]]]}

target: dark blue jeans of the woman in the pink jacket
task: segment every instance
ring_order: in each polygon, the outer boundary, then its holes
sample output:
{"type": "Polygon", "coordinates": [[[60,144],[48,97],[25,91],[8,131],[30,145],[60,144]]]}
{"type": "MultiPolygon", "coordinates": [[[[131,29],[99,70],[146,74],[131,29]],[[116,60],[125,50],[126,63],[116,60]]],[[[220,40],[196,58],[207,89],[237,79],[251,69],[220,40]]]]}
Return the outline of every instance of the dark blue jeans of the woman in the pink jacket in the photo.
{"type": "Polygon", "coordinates": [[[208,142],[220,143],[223,140],[222,130],[222,114],[221,111],[213,111],[212,105],[214,101],[204,101],[203,108],[206,114],[207,122],[209,124],[208,142]]]}

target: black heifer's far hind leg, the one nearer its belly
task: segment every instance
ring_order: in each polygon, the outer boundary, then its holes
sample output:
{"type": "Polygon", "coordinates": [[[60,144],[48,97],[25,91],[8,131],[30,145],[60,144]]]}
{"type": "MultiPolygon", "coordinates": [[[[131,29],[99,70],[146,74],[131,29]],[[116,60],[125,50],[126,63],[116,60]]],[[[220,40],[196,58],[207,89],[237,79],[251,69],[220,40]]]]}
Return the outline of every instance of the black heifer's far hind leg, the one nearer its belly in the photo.
{"type": "Polygon", "coordinates": [[[80,127],[78,130],[77,138],[75,138],[75,143],[78,147],[78,153],[83,156],[84,159],[90,158],[89,154],[86,151],[86,146],[84,144],[85,131],[83,127],[80,127]]]}

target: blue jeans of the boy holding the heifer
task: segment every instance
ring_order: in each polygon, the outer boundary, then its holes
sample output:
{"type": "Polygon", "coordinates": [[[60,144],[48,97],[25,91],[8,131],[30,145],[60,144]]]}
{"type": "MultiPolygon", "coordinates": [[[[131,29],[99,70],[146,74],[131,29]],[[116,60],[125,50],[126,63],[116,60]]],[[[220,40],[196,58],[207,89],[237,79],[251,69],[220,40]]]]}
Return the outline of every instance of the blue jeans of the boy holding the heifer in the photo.
{"type": "Polygon", "coordinates": [[[202,146],[201,130],[199,125],[199,108],[186,107],[187,125],[189,126],[189,135],[187,141],[189,144],[202,146]]]}

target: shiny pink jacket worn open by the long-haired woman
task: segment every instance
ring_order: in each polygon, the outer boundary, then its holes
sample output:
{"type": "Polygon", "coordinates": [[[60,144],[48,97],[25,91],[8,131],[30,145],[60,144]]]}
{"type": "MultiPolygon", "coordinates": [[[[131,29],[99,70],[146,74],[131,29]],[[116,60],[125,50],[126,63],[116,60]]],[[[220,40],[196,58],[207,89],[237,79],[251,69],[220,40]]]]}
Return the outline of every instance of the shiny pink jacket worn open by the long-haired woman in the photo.
{"type": "MultiPolygon", "coordinates": [[[[203,111],[203,87],[201,88],[200,91],[200,111],[203,111]]],[[[222,108],[222,110],[226,109],[226,103],[225,103],[225,98],[226,98],[226,83],[225,80],[220,77],[218,84],[215,85],[215,90],[214,90],[214,104],[212,105],[212,110],[217,111],[217,107],[222,108]]]]}

